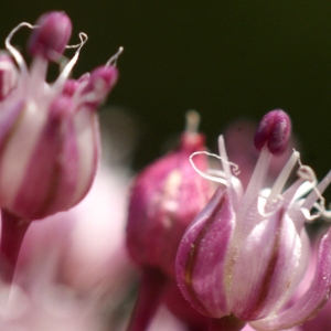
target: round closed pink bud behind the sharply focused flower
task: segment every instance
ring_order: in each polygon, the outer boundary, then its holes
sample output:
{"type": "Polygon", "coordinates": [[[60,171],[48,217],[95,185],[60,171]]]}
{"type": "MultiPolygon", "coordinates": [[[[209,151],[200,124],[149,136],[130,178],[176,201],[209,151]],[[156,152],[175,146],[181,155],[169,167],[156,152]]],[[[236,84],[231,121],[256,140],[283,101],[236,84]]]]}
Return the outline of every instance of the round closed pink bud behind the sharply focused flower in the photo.
{"type": "MultiPolygon", "coordinates": [[[[204,149],[200,134],[185,132],[179,148],[136,179],[130,196],[127,246],[140,266],[174,276],[174,258],[185,228],[211,195],[211,185],[192,169],[189,157],[204,149]]],[[[205,156],[196,158],[207,169],[205,156]]]]}

